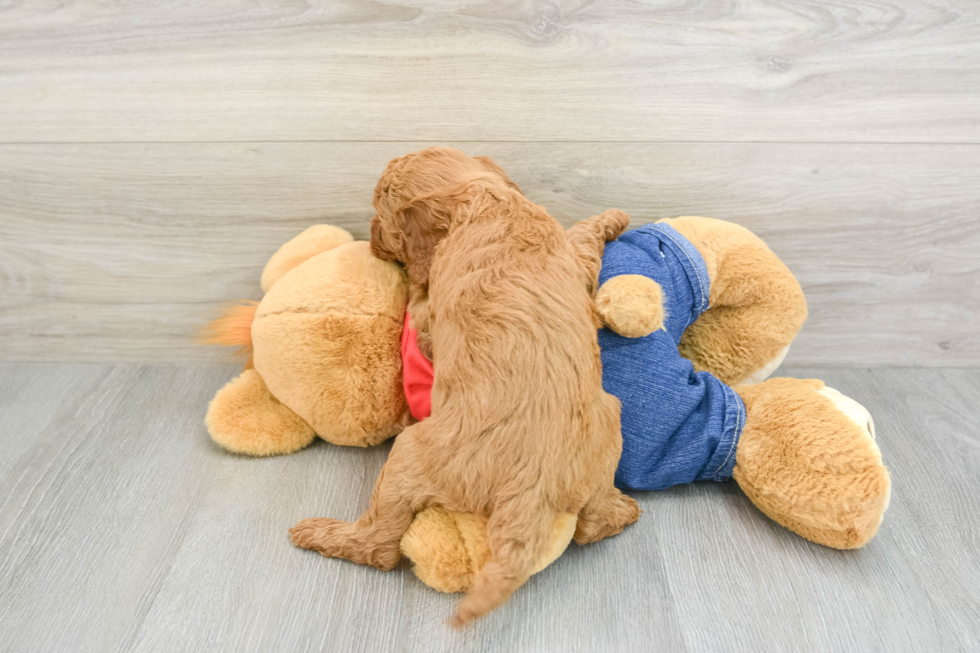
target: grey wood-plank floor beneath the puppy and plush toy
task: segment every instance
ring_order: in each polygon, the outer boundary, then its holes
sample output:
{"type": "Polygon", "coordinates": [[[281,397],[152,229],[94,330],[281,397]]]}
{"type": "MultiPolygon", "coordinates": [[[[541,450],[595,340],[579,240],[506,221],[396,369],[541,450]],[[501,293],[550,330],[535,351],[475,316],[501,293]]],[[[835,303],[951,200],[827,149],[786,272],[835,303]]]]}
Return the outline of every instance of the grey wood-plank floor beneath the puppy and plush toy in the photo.
{"type": "Polygon", "coordinates": [[[0,364],[0,650],[787,651],[980,648],[980,370],[808,369],[872,412],[894,482],[863,550],[768,521],[737,486],[637,496],[463,632],[457,597],[294,549],[355,517],[387,447],[272,459],[211,444],[228,366],[0,364]]]}

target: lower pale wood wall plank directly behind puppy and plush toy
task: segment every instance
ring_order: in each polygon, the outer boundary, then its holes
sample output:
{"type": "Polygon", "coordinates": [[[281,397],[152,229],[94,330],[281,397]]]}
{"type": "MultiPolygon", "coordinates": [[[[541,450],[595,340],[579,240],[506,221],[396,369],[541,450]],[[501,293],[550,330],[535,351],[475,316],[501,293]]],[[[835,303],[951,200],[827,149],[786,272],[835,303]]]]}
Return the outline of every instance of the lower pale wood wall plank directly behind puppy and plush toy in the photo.
{"type": "MultiPolygon", "coordinates": [[[[0,359],[220,361],[194,330],[258,299],[317,222],[367,238],[371,193],[422,143],[0,146],[0,359]]],[[[980,364],[980,148],[465,143],[565,224],[742,224],[798,276],[790,364],[980,364]]]]}

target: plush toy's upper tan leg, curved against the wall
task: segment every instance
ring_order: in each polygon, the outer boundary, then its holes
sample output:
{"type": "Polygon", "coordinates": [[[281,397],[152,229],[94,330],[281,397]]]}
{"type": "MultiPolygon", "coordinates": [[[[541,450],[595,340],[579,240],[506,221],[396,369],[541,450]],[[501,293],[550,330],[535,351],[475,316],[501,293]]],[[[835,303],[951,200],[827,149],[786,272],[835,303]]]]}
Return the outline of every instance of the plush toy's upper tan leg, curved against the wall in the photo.
{"type": "Polygon", "coordinates": [[[806,320],[800,284],[744,227],[699,217],[664,222],[694,244],[710,278],[710,307],[684,332],[681,355],[728,385],[765,380],[806,320]]]}

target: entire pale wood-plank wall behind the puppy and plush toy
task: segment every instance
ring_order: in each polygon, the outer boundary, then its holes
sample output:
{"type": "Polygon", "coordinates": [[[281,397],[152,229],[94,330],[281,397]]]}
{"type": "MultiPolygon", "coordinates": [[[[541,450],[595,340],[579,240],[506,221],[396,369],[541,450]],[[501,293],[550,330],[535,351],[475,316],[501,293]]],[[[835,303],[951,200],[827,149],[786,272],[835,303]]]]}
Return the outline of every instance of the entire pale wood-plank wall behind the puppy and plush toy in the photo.
{"type": "Polygon", "coordinates": [[[224,360],[393,156],[496,158],[564,222],[744,224],[803,284],[797,365],[980,364],[980,6],[747,0],[0,7],[0,359],[224,360]]]}

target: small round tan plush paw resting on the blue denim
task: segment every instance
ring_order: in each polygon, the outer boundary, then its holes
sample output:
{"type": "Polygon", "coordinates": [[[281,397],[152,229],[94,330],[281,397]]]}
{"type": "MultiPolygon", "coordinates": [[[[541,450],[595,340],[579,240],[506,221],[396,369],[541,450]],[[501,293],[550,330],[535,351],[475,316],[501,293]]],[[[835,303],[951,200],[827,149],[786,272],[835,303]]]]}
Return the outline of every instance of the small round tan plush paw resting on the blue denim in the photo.
{"type": "Polygon", "coordinates": [[[663,291],[643,275],[623,274],[602,284],[596,309],[603,324],[626,338],[642,338],[664,326],[663,291]]]}

